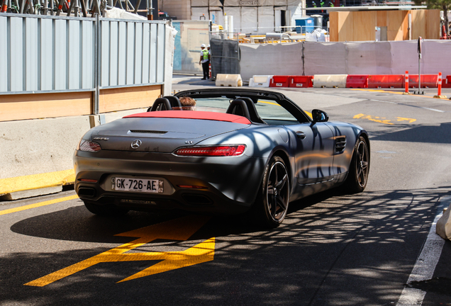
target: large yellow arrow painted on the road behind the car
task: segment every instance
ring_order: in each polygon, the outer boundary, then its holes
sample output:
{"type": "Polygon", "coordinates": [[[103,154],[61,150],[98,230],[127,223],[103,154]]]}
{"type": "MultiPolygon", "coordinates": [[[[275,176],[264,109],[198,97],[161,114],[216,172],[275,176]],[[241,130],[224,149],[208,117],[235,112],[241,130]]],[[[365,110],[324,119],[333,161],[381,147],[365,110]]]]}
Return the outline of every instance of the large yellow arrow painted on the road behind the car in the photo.
{"type": "Polygon", "coordinates": [[[185,251],[167,251],[167,252],[142,252],[142,253],[126,253],[132,249],[135,249],[143,244],[152,242],[155,239],[167,239],[167,240],[181,240],[186,241],[195,232],[197,232],[210,217],[191,215],[187,217],[181,217],[167,222],[162,222],[157,225],[150,225],[140,229],[135,229],[130,232],[117,234],[116,236],[125,237],[140,237],[127,244],[117,246],[114,249],[104,251],[103,253],[93,256],[79,263],[75,263],[67,268],[62,268],[59,271],[38,278],[37,280],[30,281],[25,285],[43,287],[50,283],[60,280],[74,273],[94,266],[97,263],[106,262],[118,262],[118,261],[150,261],[150,260],[162,260],[160,263],[156,263],[149,268],[145,268],[143,271],[133,274],[128,278],[120,280],[121,283],[126,280],[133,280],[135,278],[141,278],[144,276],[150,276],[152,274],[171,271],[177,268],[183,268],[186,266],[193,266],[197,263],[203,263],[206,261],[212,261],[215,250],[215,238],[207,239],[200,244],[192,246],[185,251]]]}

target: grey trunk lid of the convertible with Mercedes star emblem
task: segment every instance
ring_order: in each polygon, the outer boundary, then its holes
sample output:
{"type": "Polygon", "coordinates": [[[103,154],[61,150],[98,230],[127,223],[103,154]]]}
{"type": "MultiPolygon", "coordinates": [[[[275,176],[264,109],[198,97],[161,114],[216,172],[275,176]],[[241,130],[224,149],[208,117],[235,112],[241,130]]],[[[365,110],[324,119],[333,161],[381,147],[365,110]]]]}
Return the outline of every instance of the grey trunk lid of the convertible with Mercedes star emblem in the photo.
{"type": "Polygon", "coordinates": [[[91,141],[98,142],[102,150],[169,153],[248,126],[185,118],[122,118],[94,128],[91,141]],[[140,146],[134,149],[131,145],[135,140],[140,141],[140,146]]]}

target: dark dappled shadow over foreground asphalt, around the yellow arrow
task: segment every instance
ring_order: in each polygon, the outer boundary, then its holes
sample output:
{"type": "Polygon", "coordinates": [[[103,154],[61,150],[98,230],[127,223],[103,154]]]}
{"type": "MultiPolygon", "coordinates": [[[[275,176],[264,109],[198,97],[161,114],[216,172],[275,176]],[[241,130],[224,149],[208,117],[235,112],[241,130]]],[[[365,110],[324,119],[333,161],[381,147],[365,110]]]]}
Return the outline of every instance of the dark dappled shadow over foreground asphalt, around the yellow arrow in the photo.
{"type": "Polygon", "coordinates": [[[0,300],[11,305],[393,305],[440,199],[449,195],[450,188],[352,196],[335,189],[291,203],[277,229],[212,217],[187,242],[156,240],[139,250],[189,248],[216,237],[213,261],[123,283],[117,282],[156,261],[99,263],[42,288],[24,286],[133,240],[114,234],[174,218],[146,212],[101,218],[82,206],[51,212],[11,230],[55,244],[80,243],[74,250],[38,253],[24,246],[2,257],[0,300]]]}

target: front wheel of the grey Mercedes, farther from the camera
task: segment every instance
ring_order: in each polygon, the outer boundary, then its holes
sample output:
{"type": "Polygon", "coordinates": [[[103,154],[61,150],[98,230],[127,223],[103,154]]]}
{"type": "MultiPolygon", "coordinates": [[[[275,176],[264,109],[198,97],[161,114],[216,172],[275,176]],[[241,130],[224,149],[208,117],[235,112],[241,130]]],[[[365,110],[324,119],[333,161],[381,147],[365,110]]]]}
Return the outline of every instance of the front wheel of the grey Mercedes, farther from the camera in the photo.
{"type": "Polygon", "coordinates": [[[369,148],[367,140],[360,136],[355,144],[345,186],[349,193],[361,193],[367,187],[369,174],[369,148]]]}

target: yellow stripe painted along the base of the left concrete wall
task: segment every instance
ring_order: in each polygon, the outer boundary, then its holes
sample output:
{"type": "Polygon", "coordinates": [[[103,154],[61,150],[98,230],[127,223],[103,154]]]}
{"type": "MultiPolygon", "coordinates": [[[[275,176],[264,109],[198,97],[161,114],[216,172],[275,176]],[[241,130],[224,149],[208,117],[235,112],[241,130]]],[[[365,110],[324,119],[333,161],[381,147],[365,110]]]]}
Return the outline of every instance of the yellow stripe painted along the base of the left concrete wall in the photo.
{"type": "Polygon", "coordinates": [[[0,195],[74,183],[74,169],[0,179],[0,195]]]}

